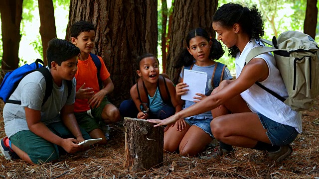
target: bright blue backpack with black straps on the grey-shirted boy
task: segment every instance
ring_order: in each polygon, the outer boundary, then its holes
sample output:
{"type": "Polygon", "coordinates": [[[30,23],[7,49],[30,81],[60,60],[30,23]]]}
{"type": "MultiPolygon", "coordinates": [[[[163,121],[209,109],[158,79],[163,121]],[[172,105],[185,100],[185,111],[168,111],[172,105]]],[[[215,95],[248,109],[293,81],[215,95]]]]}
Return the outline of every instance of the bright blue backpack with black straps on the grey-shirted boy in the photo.
{"type": "MultiPolygon", "coordinates": [[[[35,71],[40,72],[44,76],[46,83],[45,83],[45,94],[42,101],[42,105],[47,101],[47,99],[52,93],[53,80],[52,80],[51,73],[49,72],[47,68],[43,67],[43,64],[44,63],[42,60],[36,59],[36,61],[31,63],[30,65],[25,64],[11,72],[6,73],[0,85],[0,98],[4,101],[4,103],[21,104],[21,101],[11,100],[9,99],[9,97],[11,96],[13,91],[16,89],[16,87],[19,85],[20,81],[26,75],[35,71]]],[[[72,90],[72,82],[71,81],[66,81],[66,82],[67,82],[68,97],[69,97],[72,90]]]]}

